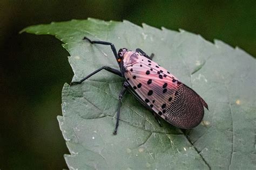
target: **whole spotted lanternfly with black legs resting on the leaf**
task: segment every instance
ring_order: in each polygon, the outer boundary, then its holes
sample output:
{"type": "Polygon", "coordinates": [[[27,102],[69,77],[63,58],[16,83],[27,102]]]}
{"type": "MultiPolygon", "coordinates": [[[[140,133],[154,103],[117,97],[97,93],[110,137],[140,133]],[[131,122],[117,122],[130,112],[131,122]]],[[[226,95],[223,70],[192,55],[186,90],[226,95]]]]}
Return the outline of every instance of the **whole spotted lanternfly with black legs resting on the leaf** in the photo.
{"type": "Polygon", "coordinates": [[[149,56],[140,48],[135,52],[120,48],[117,53],[111,42],[91,41],[86,37],[83,40],[91,44],[110,45],[120,70],[103,66],[84,79],[71,82],[71,86],[82,83],[103,69],[125,78],[119,94],[116,128],[113,134],[117,134],[121,100],[127,90],[152,111],[159,124],[159,117],[161,117],[177,128],[192,129],[202,121],[204,107],[208,109],[206,102],[168,70],[152,61],[154,54],[149,56]]]}

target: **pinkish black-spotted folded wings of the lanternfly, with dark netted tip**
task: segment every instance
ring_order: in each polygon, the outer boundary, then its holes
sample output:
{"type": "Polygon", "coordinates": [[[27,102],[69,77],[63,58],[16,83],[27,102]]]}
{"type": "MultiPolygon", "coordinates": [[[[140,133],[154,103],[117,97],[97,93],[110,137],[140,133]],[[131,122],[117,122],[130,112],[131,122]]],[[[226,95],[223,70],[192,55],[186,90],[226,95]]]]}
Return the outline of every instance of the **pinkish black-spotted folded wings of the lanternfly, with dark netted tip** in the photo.
{"type": "Polygon", "coordinates": [[[134,91],[172,125],[196,127],[203,119],[206,102],[156,62],[144,57],[141,60],[126,66],[125,77],[134,91]]]}

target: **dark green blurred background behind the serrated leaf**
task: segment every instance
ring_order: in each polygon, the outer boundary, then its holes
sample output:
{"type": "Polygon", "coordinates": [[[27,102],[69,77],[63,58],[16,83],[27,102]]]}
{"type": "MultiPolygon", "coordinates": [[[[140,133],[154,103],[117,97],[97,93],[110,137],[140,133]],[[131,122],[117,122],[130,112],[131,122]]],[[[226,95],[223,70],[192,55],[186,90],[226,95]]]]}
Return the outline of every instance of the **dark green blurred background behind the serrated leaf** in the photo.
{"type": "MultiPolygon", "coordinates": [[[[130,20],[220,39],[256,56],[255,1],[1,1],[0,168],[62,169],[69,153],[59,130],[61,90],[73,76],[52,36],[18,34],[35,24],[130,20]]],[[[231,63],[232,64],[232,63],[231,63]]]]}

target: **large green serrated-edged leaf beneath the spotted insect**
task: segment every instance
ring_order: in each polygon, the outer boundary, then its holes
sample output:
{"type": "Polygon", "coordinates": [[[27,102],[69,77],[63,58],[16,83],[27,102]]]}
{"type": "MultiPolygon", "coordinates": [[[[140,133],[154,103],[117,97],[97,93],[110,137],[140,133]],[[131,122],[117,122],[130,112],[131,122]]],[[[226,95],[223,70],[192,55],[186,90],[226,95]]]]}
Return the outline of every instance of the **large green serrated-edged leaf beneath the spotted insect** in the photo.
{"type": "Polygon", "coordinates": [[[239,49],[180,30],[158,30],[130,22],[97,19],[30,26],[23,31],[51,34],[63,41],[80,80],[101,66],[118,69],[111,48],[82,40],[112,42],[117,50],[142,48],[192,87],[208,103],[204,121],[181,131],[165,121],[160,128],[134,96],[122,101],[117,136],[113,136],[123,78],[102,71],[62,91],[58,116],[70,154],[70,169],[227,169],[256,168],[255,59],[239,49]]]}

